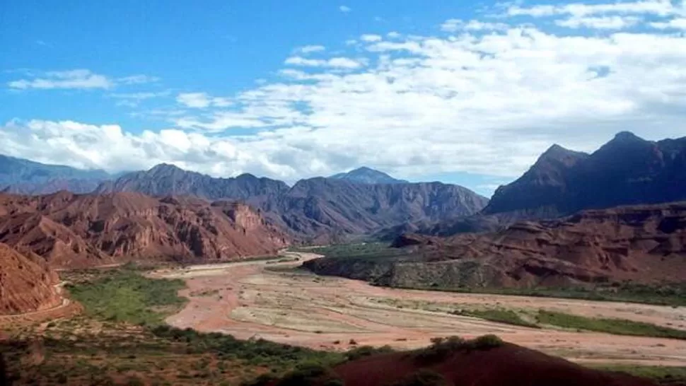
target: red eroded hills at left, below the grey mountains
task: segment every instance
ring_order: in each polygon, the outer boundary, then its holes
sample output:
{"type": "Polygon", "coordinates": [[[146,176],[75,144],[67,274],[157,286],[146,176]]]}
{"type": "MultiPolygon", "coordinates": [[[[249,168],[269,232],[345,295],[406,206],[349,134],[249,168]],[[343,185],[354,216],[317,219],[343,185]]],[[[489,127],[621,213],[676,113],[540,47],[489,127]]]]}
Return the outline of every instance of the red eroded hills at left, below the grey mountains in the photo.
{"type": "Polygon", "coordinates": [[[273,255],[288,238],[245,204],[138,193],[0,195],[0,242],[52,267],[273,255]]]}

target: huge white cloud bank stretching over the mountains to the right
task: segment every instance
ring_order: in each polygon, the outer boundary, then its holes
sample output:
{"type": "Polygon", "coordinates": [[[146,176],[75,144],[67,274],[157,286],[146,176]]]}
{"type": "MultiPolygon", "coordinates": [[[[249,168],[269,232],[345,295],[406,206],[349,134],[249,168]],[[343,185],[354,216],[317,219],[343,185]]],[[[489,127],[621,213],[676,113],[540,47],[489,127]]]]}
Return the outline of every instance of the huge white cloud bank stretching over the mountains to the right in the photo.
{"type": "MultiPolygon", "coordinates": [[[[652,23],[680,18],[676,5],[634,3],[546,12],[552,21],[612,16],[607,9],[652,23]]],[[[487,33],[465,28],[477,22],[492,19],[460,22],[448,30],[459,33],[442,37],[359,40],[335,57],[293,56],[276,80],[231,95],[228,106],[182,94],[179,103],[194,110],[170,118],[170,129],[11,121],[0,143],[11,155],[110,170],[173,162],[295,180],[369,165],[410,179],[468,172],[507,180],[553,143],[592,151],[622,130],[648,139],[686,133],[682,34],[653,26],[591,35],[509,18],[487,33]]]]}

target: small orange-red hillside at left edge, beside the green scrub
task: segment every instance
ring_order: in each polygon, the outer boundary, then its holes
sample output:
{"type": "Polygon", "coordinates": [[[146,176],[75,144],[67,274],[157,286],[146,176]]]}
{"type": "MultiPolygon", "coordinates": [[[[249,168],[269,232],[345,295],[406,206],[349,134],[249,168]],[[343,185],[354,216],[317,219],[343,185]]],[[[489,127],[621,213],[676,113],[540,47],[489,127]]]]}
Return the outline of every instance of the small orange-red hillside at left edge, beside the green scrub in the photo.
{"type": "Polygon", "coordinates": [[[47,310],[62,303],[57,274],[40,257],[21,255],[0,243],[0,314],[47,310]]]}

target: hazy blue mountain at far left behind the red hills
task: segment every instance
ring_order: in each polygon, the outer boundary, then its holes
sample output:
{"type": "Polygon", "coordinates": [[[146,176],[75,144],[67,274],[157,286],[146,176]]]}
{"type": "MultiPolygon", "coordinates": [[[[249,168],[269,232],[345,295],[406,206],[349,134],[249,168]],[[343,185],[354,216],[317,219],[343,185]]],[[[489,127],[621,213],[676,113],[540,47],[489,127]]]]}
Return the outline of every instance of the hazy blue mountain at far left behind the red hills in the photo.
{"type": "Polygon", "coordinates": [[[91,192],[112,178],[105,170],[82,170],[65,165],[46,165],[23,158],[0,155],[0,191],[17,194],[50,194],[62,189],[91,192]]]}

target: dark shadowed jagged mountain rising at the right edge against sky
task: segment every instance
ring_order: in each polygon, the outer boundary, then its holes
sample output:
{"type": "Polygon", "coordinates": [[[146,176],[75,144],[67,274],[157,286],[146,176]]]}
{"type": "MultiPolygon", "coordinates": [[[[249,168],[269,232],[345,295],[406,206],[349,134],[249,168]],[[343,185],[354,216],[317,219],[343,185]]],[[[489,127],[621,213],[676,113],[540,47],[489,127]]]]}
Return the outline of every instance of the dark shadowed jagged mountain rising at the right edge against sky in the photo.
{"type": "Polygon", "coordinates": [[[581,209],[686,199],[686,137],[653,142],[624,131],[592,154],[553,146],[484,214],[557,217],[581,209]]]}

